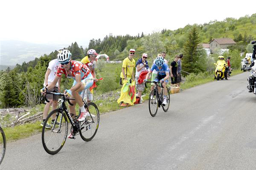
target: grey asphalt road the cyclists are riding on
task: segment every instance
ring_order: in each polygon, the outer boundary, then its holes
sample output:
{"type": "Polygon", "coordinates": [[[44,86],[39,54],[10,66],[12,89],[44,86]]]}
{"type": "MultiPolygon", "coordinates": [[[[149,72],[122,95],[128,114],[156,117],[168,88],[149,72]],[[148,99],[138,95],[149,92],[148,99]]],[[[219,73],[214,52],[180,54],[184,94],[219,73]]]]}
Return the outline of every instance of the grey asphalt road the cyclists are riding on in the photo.
{"type": "Polygon", "coordinates": [[[8,143],[0,170],[255,170],[249,74],[171,95],[169,111],[154,118],[147,102],[101,115],[92,141],[67,139],[53,156],[41,134],[8,143]]]}

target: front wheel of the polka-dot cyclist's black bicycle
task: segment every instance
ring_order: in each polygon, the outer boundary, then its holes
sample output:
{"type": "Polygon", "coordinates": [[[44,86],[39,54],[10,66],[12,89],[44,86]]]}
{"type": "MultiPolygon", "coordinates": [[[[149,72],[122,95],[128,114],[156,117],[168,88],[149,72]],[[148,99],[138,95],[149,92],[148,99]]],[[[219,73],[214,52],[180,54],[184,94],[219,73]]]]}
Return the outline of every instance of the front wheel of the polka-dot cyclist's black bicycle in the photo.
{"type": "Polygon", "coordinates": [[[42,143],[44,146],[44,150],[54,155],[58,153],[63,145],[65,144],[67,138],[67,131],[68,131],[68,122],[67,116],[64,112],[59,112],[58,109],[53,110],[47,116],[43,130],[42,130],[42,143]],[[48,122],[51,124],[51,116],[56,113],[55,124],[52,125],[51,129],[46,129],[46,123],[48,122]],[[60,123],[60,125],[57,125],[60,123]]]}

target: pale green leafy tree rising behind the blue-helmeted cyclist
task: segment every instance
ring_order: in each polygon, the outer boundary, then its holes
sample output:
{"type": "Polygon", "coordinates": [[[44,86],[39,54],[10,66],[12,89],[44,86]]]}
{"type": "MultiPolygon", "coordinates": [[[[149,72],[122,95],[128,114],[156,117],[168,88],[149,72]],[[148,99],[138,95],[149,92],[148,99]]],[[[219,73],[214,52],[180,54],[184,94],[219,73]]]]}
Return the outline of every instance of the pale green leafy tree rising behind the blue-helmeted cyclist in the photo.
{"type": "Polygon", "coordinates": [[[141,38],[141,43],[147,54],[151,57],[153,63],[153,58],[157,57],[157,54],[164,51],[163,42],[160,40],[160,33],[153,32],[151,35],[147,35],[141,38]]]}

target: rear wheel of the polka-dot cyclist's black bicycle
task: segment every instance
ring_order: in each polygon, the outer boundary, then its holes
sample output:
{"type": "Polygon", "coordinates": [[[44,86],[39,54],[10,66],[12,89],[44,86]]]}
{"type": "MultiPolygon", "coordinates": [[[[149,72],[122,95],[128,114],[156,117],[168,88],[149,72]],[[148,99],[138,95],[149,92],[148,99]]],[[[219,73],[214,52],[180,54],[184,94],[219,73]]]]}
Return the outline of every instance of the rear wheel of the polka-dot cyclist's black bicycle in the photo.
{"type": "MultiPolygon", "coordinates": [[[[97,133],[99,127],[99,109],[95,103],[90,102],[87,104],[87,107],[84,106],[85,109],[95,117],[88,116],[85,121],[80,123],[80,136],[84,141],[90,141],[94,138],[97,133]]],[[[79,111],[80,112],[80,111],[79,111]]]]}

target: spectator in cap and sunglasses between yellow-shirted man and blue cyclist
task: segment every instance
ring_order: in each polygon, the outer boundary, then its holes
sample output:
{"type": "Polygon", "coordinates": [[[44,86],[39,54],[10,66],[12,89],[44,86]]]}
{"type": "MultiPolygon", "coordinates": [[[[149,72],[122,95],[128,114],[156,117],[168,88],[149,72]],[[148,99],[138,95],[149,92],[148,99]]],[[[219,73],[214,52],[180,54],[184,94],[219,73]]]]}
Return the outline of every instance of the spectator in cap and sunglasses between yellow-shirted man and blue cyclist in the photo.
{"type": "Polygon", "coordinates": [[[135,80],[136,80],[136,89],[138,91],[138,97],[140,98],[140,103],[142,103],[141,94],[145,89],[145,83],[139,84],[138,80],[140,78],[140,73],[144,71],[149,71],[148,61],[147,61],[148,55],[144,53],[142,55],[142,58],[140,58],[136,63],[136,73],[135,73],[135,80]]]}

